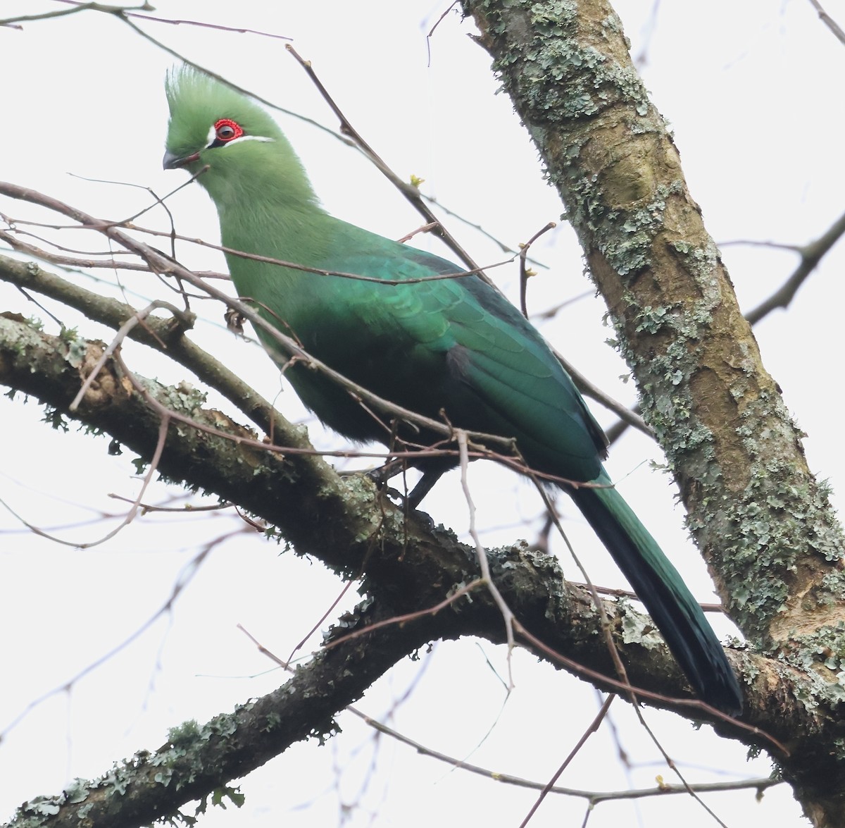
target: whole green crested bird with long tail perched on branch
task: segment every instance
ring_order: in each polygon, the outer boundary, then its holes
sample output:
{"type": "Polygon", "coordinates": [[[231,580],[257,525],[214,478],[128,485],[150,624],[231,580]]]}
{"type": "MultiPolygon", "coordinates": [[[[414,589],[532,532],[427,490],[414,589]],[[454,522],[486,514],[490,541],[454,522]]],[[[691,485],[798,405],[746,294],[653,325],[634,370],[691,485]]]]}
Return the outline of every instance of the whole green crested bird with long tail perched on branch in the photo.
{"type": "MultiPolygon", "coordinates": [[[[216,206],[224,248],[260,257],[226,253],[239,296],[308,354],[380,398],[515,441],[527,466],[581,510],[695,694],[739,715],[743,695],[716,634],[613,486],[602,465],[602,429],[536,328],[477,273],[446,278],[461,267],[331,216],[275,120],[242,92],[187,66],[169,71],[165,85],[163,166],[196,176],[216,206]]],[[[423,446],[442,440],[434,430],[384,422],[256,331],[305,406],[346,439],[390,447],[397,436],[423,446]]],[[[454,452],[433,453],[409,460],[423,473],[409,496],[413,507],[458,463],[454,452]]]]}

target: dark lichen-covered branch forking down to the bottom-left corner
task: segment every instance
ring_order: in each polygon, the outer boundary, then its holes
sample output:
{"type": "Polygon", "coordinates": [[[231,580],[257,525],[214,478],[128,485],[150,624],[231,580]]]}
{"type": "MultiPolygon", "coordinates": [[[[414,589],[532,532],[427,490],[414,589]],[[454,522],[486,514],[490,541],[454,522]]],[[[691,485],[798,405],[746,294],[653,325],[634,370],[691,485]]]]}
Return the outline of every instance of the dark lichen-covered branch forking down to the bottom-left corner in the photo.
{"type": "MultiPolygon", "coordinates": [[[[375,612],[369,615],[357,621],[379,620],[375,612]]],[[[75,780],[56,797],[26,803],[7,828],[137,828],[172,817],[185,803],[225,789],[226,781],[245,776],[292,743],[332,736],[335,713],[426,640],[424,623],[346,639],[297,668],[273,693],[201,727],[185,722],[155,752],[139,751],[98,780],[75,780]]]]}

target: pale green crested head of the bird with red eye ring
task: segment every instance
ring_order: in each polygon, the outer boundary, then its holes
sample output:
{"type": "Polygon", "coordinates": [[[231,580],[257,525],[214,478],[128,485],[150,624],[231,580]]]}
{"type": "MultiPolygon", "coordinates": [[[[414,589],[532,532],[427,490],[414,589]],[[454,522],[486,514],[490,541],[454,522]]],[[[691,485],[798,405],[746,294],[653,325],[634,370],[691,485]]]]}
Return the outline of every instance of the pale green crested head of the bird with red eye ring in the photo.
{"type": "Polygon", "coordinates": [[[307,184],[302,165],[267,112],[210,75],[182,67],[167,74],[165,169],[199,173],[218,207],[229,196],[266,186],[307,184]]]}

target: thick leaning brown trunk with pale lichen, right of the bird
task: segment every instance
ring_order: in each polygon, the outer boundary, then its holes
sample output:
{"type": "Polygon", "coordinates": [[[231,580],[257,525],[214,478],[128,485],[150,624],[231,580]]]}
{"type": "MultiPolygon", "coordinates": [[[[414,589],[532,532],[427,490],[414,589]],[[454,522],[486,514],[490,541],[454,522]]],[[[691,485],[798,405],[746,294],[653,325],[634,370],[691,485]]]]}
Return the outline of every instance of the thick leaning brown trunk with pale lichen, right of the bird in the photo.
{"type": "MultiPolygon", "coordinates": [[[[603,0],[463,0],[463,8],[564,200],[723,602],[752,642],[812,669],[817,698],[837,705],[842,529],[763,368],[619,18],[603,0]]],[[[813,760],[788,763],[808,813],[810,800],[820,812],[845,812],[840,721],[826,723],[813,760]]]]}

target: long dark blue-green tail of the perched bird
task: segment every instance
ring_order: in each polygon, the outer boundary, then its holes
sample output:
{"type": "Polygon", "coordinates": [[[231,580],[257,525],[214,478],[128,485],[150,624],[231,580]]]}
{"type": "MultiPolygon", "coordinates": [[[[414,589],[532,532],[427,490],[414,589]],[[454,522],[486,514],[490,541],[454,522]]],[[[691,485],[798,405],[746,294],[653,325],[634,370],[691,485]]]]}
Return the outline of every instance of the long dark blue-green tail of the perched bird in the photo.
{"type": "Polygon", "coordinates": [[[695,693],[708,705],[739,714],[739,683],[701,606],[607,475],[596,482],[607,485],[570,491],[575,504],[646,606],[695,693]]]}

